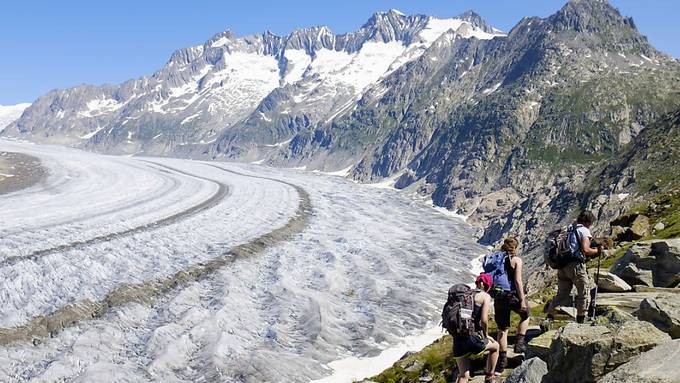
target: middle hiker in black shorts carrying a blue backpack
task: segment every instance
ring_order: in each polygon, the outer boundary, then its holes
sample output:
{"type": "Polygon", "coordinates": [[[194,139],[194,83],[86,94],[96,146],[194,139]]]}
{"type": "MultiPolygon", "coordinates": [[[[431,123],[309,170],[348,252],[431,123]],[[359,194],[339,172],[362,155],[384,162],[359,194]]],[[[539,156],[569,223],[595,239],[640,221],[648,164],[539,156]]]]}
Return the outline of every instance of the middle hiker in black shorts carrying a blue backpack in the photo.
{"type": "Polygon", "coordinates": [[[508,364],[508,330],[510,314],[515,312],[520,321],[517,325],[514,351],[518,354],[526,352],[524,337],[529,327],[529,303],[524,294],[522,282],[522,259],[517,255],[519,241],[508,237],[503,241],[501,250],[484,257],[484,272],[493,277],[491,296],[494,299],[494,320],[498,326],[496,339],[500,345],[496,371],[502,372],[508,364]]]}

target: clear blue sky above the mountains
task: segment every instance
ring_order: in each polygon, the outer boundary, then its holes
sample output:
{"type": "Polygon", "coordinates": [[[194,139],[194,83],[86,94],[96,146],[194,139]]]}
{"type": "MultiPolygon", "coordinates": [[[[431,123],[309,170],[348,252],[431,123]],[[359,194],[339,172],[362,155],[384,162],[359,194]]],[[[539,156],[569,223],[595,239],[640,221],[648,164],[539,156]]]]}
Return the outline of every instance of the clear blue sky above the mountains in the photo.
{"type": "MultiPolygon", "coordinates": [[[[0,7],[0,104],[31,102],[53,88],[119,83],[159,69],[177,48],[227,28],[237,35],[328,25],[356,30],[376,11],[451,17],[472,9],[509,30],[548,16],[558,0],[40,0],[0,7]]],[[[680,57],[680,1],[611,0],[654,46],[680,57]]]]}

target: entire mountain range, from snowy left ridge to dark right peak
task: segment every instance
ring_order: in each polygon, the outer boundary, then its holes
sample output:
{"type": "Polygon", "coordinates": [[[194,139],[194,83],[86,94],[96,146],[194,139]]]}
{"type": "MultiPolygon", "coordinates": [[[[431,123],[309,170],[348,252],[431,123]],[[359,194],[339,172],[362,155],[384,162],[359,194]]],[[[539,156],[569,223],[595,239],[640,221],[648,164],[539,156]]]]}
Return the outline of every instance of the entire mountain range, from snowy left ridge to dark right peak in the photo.
{"type": "Polygon", "coordinates": [[[572,0],[507,33],[474,12],[390,10],[343,35],[225,31],[151,76],[51,91],[1,134],[343,171],[469,216],[483,243],[512,233],[538,253],[578,208],[605,223],[676,186],[657,182],[649,154],[680,168],[663,139],[679,93],[678,60],[607,1],[572,0]]]}

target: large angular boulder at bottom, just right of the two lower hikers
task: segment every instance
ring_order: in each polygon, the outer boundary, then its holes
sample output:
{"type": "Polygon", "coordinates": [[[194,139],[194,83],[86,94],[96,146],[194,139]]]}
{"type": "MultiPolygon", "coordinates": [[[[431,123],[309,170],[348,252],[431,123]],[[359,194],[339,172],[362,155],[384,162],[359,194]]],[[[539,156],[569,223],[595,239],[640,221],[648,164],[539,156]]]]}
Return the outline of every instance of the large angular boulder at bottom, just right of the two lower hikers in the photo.
{"type": "Polygon", "coordinates": [[[570,323],[558,331],[552,343],[545,381],[595,382],[632,357],[669,340],[668,334],[638,320],[618,326],[570,323]]]}

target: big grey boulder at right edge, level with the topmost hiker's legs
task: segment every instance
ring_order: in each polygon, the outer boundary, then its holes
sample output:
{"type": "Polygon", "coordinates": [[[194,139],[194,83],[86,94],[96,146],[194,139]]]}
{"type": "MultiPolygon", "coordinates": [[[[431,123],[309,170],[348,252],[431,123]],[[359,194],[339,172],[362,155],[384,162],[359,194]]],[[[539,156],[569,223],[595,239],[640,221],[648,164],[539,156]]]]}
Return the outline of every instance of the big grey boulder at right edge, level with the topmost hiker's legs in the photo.
{"type": "Polygon", "coordinates": [[[611,272],[631,285],[675,287],[680,283],[680,239],[638,242],[611,272]]]}

